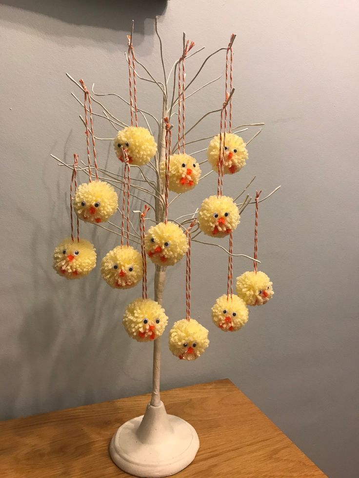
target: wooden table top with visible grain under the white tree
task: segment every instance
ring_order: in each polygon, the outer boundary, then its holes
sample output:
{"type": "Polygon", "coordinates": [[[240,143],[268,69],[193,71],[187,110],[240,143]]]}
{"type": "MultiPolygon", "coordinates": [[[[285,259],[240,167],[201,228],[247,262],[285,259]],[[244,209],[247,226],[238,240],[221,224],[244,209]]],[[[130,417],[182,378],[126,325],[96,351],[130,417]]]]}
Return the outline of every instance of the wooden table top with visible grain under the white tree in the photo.
{"type": "MultiPolygon", "coordinates": [[[[176,477],[325,477],[229,380],[161,393],[167,412],[197,430],[199,452],[176,477]]],[[[149,395],[0,422],[0,477],[129,477],[108,454],[124,421],[149,395]]]]}

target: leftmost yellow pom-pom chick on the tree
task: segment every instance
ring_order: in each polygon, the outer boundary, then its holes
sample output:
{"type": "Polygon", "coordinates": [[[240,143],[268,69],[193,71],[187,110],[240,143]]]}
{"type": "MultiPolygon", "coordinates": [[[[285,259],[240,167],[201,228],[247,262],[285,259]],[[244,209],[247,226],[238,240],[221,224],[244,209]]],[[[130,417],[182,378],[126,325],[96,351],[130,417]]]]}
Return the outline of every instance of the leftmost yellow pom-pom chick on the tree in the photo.
{"type": "Polygon", "coordinates": [[[66,279],[80,279],[96,266],[96,249],[86,239],[64,239],[54,250],[53,268],[66,279]]]}

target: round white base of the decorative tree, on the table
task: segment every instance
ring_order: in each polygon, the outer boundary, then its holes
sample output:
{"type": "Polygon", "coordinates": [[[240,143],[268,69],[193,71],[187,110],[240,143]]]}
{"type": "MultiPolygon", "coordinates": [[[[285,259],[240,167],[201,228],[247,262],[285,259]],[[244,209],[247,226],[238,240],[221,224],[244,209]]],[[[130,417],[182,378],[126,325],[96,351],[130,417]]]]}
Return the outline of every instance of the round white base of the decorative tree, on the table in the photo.
{"type": "Polygon", "coordinates": [[[192,425],[167,415],[163,403],[150,403],[144,415],[126,421],[110,443],[110,455],[116,465],[135,477],[160,478],[180,472],[199,449],[192,425]]]}

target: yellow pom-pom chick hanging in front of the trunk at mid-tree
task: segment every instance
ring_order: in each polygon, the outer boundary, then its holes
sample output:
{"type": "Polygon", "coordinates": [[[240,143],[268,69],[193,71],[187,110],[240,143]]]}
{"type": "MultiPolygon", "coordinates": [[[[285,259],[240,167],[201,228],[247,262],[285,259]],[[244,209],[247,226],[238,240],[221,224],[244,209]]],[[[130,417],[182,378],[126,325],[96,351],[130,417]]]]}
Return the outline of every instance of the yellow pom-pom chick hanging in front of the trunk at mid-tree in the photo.
{"type": "Polygon", "coordinates": [[[188,249],[188,238],[173,222],[160,222],[148,229],[144,238],[148,257],[159,266],[173,266],[188,249]]]}

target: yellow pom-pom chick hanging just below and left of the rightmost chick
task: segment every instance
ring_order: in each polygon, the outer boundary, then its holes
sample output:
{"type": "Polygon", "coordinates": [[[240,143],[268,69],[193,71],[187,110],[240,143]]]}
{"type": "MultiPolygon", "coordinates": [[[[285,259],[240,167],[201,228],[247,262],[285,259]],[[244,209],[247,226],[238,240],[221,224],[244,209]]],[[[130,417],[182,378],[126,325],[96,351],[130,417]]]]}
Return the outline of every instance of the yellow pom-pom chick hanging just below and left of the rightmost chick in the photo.
{"type": "Polygon", "coordinates": [[[248,321],[248,308],[237,295],[224,294],[212,307],[212,320],[224,332],[234,332],[248,321]]]}

